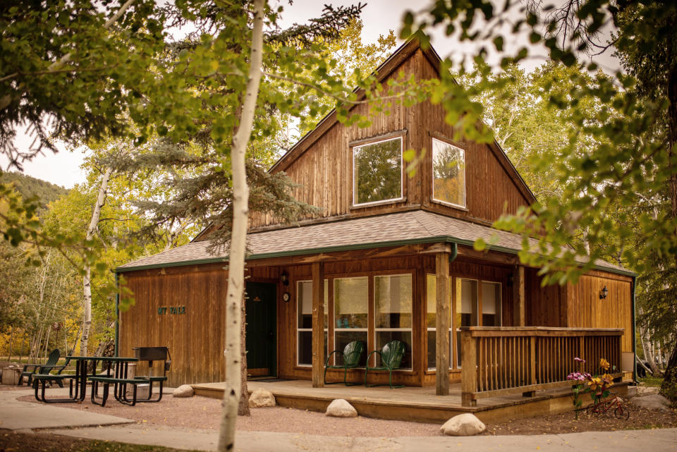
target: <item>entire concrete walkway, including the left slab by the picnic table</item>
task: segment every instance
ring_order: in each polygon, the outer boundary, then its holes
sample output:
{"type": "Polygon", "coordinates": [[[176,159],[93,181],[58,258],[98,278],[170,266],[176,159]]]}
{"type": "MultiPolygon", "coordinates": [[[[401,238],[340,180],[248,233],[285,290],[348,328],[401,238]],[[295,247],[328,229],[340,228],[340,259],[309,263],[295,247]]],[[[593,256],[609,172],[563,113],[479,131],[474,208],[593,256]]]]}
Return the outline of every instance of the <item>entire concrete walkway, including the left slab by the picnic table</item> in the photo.
{"type": "MultiPolygon", "coordinates": [[[[52,390],[54,395],[61,395],[52,390]]],[[[67,393],[67,390],[66,390],[67,393]]],[[[213,430],[147,426],[133,420],[66,408],[67,405],[20,402],[32,391],[0,391],[0,429],[49,429],[50,433],[83,439],[123,441],[187,450],[215,451],[218,434],[213,430]],[[97,426],[97,427],[92,427],[97,426]]],[[[241,452],[346,452],[346,451],[449,451],[487,452],[677,452],[677,429],[584,432],[538,436],[402,436],[396,438],[349,438],[298,433],[238,432],[236,451],[241,452]]]]}

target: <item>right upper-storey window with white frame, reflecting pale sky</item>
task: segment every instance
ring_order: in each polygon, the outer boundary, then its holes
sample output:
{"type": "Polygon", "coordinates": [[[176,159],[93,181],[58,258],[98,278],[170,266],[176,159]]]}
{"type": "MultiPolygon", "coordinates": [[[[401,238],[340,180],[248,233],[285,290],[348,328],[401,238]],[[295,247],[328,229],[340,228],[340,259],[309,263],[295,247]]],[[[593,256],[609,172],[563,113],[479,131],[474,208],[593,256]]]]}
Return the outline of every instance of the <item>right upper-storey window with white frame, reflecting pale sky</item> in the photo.
{"type": "Polygon", "coordinates": [[[432,199],[465,207],[465,151],[432,139],[432,199]]]}

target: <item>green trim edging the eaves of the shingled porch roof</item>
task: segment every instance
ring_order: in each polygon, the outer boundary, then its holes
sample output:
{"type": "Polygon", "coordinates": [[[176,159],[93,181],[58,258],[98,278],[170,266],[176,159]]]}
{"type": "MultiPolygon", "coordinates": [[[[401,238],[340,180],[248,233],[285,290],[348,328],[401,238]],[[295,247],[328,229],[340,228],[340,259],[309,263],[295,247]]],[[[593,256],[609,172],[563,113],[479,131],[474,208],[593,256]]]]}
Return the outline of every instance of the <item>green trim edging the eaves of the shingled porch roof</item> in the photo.
{"type": "MultiPolygon", "coordinates": [[[[466,245],[472,247],[474,242],[472,240],[463,240],[452,236],[433,236],[425,238],[412,238],[407,240],[391,240],[387,242],[373,242],[373,243],[355,243],[352,245],[336,245],[329,246],[324,248],[303,248],[299,250],[289,250],[289,251],[279,251],[279,252],[264,252],[259,254],[249,255],[245,260],[254,260],[254,259],[272,259],[274,257],[291,257],[291,256],[304,256],[304,255],[316,255],[324,252],[339,252],[339,251],[353,251],[353,250],[366,250],[369,248],[390,248],[403,245],[421,245],[423,243],[456,243],[457,245],[466,245]]],[[[506,248],[502,246],[489,245],[487,250],[505,252],[506,254],[517,255],[519,250],[514,250],[513,248],[506,248]]],[[[116,273],[126,273],[128,271],[139,271],[139,270],[149,270],[149,269],[161,269],[166,267],[184,267],[188,265],[200,265],[200,264],[216,264],[219,262],[228,262],[228,257],[211,257],[207,259],[195,259],[195,260],[186,260],[180,262],[166,262],[164,264],[148,264],[148,265],[139,265],[138,267],[118,267],[115,269],[116,273]]],[[[616,269],[610,267],[602,267],[600,265],[594,265],[593,269],[600,271],[608,271],[609,273],[622,274],[625,276],[637,276],[633,271],[625,269],[616,269]]]]}

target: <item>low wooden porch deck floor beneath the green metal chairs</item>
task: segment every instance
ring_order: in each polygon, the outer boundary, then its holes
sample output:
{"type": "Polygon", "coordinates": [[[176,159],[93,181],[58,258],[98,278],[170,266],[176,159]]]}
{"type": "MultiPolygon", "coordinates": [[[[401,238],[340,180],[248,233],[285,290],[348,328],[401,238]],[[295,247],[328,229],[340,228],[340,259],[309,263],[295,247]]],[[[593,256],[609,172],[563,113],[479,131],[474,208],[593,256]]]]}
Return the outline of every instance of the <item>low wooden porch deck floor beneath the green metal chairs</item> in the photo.
{"type": "MultiPolygon", "coordinates": [[[[197,396],[223,398],[224,383],[193,384],[197,396]]],[[[614,386],[619,395],[627,392],[627,383],[614,386]]],[[[483,422],[502,422],[573,409],[571,389],[537,391],[535,397],[520,395],[483,398],[475,407],[461,406],[461,384],[451,384],[449,396],[436,396],[434,386],[390,389],[388,386],[365,388],[332,384],[313,388],[311,381],[248,381],[249,391],[271,391],[278,405],[324,412],[335,398],[344,398],[361,416],[379,419],[441,423],[461,413],[473,413],[483,422]]]]}

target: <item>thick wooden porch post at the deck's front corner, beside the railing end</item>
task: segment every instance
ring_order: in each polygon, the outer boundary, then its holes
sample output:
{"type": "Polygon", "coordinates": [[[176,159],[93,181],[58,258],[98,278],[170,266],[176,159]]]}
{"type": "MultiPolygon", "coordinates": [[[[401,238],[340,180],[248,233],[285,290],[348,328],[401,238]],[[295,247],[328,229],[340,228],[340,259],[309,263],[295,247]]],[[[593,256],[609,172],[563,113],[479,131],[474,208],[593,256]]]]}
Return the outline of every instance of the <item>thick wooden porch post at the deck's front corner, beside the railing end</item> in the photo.
{"type": "Polygon", "coordinates": [[[436,312],[435,316],[435,393],[449,396],[449,252],[435,255],[436,312]]]}

